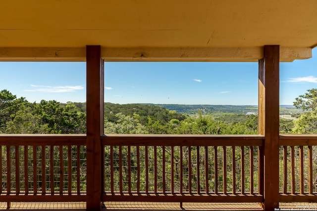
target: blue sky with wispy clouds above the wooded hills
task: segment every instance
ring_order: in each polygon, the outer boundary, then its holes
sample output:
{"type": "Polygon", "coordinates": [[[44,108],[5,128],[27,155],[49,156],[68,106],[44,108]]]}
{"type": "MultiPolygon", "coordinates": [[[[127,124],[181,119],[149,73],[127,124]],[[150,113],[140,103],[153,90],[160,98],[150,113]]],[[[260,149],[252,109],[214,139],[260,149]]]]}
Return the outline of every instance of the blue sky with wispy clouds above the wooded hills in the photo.
{"type": "MultiPolygon", "coordinates": [[[[280,64],[280,104],[317,88],[313,58],[280,64]]],[[[315,56],[315,57],[314,57],[315,56]]],[[[84,62],[0,62],[0,90],[29,102],[86,101],[84,62]]],[[[258,104],[258,63],[109,62],[105,101],[159,104],[258,104]]]]}

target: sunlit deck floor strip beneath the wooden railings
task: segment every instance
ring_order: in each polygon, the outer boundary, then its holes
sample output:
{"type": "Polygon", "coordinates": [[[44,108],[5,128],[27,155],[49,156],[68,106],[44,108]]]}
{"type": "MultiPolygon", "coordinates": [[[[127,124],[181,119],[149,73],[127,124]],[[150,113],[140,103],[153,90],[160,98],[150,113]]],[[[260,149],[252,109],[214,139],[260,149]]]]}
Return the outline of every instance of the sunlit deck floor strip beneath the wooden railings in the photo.
{"type": "MultiPolygon", "coordinates": [[[[179,203],[150,203],[150,202],[105,202],[103,211],[262,211],[258,203],[183,203],[183,209],[179,203]]],[[[300,209],[315,208],[317,203],[280,203],[279,208],[300,209]],[[307,207],[304,207],[307,206],[307,207]]],[[[7,203],[0,202],[0,210],[7,210],[7,203]]],[[[36,211],[85,211],[86,203],[21,203],[12,202],[9,210],[36,210],[36,211]]]]}

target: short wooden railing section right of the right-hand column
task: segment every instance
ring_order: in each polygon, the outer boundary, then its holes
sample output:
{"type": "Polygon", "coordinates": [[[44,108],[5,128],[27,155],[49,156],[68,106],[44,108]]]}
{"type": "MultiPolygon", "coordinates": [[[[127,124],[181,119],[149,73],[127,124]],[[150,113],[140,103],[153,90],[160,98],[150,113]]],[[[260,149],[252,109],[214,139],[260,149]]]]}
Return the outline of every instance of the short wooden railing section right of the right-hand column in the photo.
{"type": "Polygon", "coordinates": [[[317,202],[317,136],[280,135],[280,202],[317,202]]]}

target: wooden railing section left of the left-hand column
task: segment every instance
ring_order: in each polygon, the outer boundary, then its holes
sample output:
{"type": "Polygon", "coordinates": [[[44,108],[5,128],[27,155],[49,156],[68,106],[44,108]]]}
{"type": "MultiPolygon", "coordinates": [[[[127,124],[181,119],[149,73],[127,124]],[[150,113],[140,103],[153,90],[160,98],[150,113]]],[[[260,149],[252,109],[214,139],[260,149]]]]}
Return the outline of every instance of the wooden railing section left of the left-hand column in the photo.
{"type": "Polygon", "coordinates": [[[86,201],[85,135],[1,135],[1,202],[86,201]]]}

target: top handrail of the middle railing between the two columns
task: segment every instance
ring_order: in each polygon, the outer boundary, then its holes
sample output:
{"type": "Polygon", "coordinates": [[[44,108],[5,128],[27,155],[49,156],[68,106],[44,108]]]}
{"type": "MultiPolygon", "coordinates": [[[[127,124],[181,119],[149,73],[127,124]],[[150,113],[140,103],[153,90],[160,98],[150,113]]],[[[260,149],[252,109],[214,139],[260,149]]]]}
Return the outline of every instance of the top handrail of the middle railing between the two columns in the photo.
{"type": "Polygon", "coordinates": [[[106,134],[103,145],[131,146],[263,146],[263,135],[106,134]],[[156,144],[157,143],[157,144],[156,144]]]}

